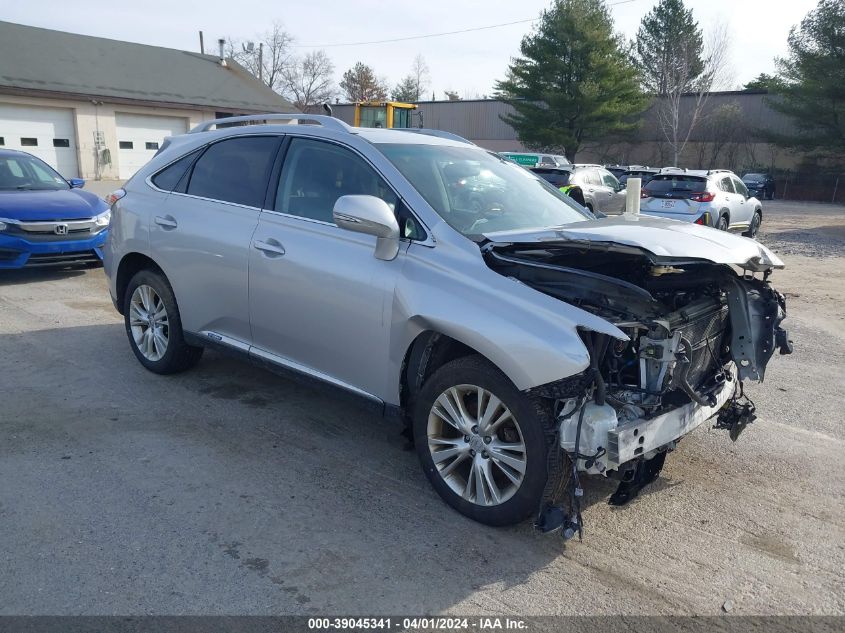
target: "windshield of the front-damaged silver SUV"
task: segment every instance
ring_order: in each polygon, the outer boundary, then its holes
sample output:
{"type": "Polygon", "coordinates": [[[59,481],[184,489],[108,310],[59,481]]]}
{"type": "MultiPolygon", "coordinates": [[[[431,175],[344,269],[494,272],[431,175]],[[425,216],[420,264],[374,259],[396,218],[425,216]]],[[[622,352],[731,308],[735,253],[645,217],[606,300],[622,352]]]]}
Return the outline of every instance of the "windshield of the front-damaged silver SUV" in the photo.
{"type": "Polygon", "coordinates": [[[401,143],[376,147],[440,217],[469,237],[594,217],[527,169],[480,148],[401,143]]]}

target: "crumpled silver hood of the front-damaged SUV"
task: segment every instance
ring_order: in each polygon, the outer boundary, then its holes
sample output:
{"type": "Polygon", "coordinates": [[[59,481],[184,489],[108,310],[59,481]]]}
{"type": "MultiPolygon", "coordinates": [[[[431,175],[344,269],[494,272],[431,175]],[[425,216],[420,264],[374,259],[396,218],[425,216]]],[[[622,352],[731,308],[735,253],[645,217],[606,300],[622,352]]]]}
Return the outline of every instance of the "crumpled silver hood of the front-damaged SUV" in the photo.
{"type": "Polygon", "coordinates": [[[485,233],[484,237],[494,243],[607,244],[611,250],[621,245],[648,251],[657,259],[706,260],[752,271],[784,267],[777,255],[751,238],[646,215],[622,214],[549,229],[485,233]]]}

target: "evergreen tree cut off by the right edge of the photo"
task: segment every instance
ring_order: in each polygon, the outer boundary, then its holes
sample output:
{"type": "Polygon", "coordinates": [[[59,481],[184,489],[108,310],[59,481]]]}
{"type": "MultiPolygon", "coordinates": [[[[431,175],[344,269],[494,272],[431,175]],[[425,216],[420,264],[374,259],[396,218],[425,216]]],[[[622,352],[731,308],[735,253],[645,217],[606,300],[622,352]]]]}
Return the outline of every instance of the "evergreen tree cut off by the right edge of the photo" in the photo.
{"type": "Polygon", "coordinates": [[[845,159],[845,3],[821,0],[789,33],[789,56],[777,60],[771,107],[789,115],[798,134],[780,145],[845,159]]]}

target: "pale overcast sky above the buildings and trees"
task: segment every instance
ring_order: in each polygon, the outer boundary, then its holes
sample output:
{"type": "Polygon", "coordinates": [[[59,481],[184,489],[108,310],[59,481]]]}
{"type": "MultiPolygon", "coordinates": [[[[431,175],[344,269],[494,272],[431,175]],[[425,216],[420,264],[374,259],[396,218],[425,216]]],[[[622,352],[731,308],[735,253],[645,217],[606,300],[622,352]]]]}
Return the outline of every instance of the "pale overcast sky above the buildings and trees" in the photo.
{"type": "MultiPolygon", "coordinates": [[[[610,0],[617,30],[627,37],[655,0],[610,0]]],[[[731,50],[736,84],[773,71],[773,58],[786,52],[789,28],[801,21],[815,0],[686,0],[705,29],[723,21],[733,34],[731,50]]],[[[219,37],[248,39],[281,21],[295,36],[299,51],[323,48],[334,60],[337,78],[356,61],[375,68],[395,84],[422,54],[431,68],[437,99],[444,90],[464,97],[492,92],[531,23],[514,24],[459,35],[429,37],[391,44],[329,46],[444,31],[456,31],[536,18],[547,0],[7,0],[0,20],[72,33],[199,50],[198,31],[205,33],[206,52],[219,37]]],[[[166,69],[151,69],[166,72],[166,69]]],[[[428,97],[430,98],[430,96],[428,97]]]]}

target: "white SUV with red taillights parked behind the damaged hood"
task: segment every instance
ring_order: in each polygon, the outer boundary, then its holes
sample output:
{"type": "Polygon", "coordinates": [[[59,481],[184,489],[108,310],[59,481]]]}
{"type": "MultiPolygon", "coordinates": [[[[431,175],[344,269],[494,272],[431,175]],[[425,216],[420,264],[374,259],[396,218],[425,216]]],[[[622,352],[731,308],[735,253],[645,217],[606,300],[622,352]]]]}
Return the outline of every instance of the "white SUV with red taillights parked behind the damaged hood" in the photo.
{"type": "Polygon", "coordinates": [[[694,222],[723,231],[757,235],[763,208],[736,174],[710,171],[663,170],[642,190],[640,210],[682,222],[694,222]]]}

